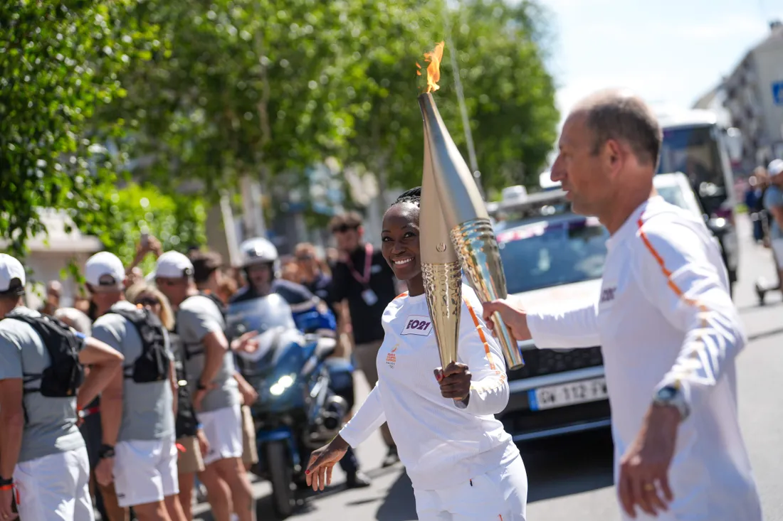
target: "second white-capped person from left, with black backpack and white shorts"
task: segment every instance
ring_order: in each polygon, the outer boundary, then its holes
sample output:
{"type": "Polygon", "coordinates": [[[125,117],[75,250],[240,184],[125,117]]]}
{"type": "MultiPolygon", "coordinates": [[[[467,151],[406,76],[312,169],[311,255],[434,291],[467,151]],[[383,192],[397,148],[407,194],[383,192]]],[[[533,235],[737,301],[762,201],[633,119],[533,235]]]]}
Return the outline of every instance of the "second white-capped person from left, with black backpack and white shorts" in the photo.
{"type": "Polygon", "coordinates": [[[87,289],[98,319],[92,336],[125,355],[121,378],[101,396],[102,446],[96,479],[114,481],[117,502],[139,519],[185,521],[179,505],[175,444],[175,366],[157,316],[124,299],[125,269],[114,254],[87,260],[87,289]]]}

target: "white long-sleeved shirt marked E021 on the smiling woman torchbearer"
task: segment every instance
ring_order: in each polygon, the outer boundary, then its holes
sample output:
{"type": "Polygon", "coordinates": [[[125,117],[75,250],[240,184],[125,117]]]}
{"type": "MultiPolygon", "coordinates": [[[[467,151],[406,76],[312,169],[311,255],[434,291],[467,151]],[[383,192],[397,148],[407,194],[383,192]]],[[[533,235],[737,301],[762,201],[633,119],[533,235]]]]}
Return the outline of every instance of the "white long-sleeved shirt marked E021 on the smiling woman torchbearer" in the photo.
{"type": "Polygon", "coordinates": [[[482,321],[470,286],[462,286],[459,361],[472,374],[467,408],[444,398],[435,380],[441,365],[424,295],[392,300],[383,314],[378,383],[341,430],[352,447],[388,423],[400,461],[417,490],[452,487],[518,457],[519,451],[494,415],[508,403],[503,354],[482,321]]]}

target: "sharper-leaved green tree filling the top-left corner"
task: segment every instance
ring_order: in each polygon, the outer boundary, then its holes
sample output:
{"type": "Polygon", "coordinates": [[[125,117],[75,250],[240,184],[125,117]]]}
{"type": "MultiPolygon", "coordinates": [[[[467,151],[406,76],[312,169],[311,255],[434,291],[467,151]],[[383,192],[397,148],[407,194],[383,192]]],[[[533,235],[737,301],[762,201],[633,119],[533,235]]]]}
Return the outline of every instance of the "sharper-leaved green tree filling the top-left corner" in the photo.
{"type": "Polygon", "coordinates": [[[110,216],[96,214],[96,192],[115,181],[112,160],[123,160],[103,147],[121,122],[90,122],[96,106],[125,94],[117,75],[157,48],[154,27],[135,22],[135,7],[0,4],[0,234],[12,253],[23,255],[27,238],[45,232],[41,207],[69,210],[79,228],[87,218],[108,225],[110,216]]]}

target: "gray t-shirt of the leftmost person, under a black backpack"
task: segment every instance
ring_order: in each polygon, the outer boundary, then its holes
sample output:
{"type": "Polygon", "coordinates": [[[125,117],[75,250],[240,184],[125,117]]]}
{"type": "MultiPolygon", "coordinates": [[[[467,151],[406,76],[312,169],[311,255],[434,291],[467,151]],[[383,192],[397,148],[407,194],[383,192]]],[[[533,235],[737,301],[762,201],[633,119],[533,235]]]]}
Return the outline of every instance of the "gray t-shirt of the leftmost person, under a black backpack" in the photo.
{"type": "MultiPolygon", "coordinates": [[[[27,307],[18,307],[13,314],[40,316],[27,307]]],[[[50,364],[49,351],[30,325],[13,318],[0,321],[0,380],[40,375],[50,364]]],[[[41,380],[25,384],[26,389],[39,386],[41,380]]],[[[85,446],[76,426],[76,397],[49,398],[41,393],[27,393],[23,404],[27,421],[20,463],[85,446]]]]}

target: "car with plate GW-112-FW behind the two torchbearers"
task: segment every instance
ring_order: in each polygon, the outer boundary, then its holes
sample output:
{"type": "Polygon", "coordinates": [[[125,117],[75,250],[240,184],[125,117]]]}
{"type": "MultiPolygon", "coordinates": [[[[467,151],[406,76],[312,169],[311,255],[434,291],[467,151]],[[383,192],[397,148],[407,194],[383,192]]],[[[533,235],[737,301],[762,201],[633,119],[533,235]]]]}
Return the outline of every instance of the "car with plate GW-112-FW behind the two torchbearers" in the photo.
{"type": "MultiPolygon", "coordinates": [[[[573,214],[562,190],[490,207],[508,293],[528,307],[575,307],[597,301],[608,232],[573,214]]],[[[520,343],[523,368],[508,372],[511,397],[497,418],[515,441],[611,425],[601,347],[536,349],[520,343]]]]}

